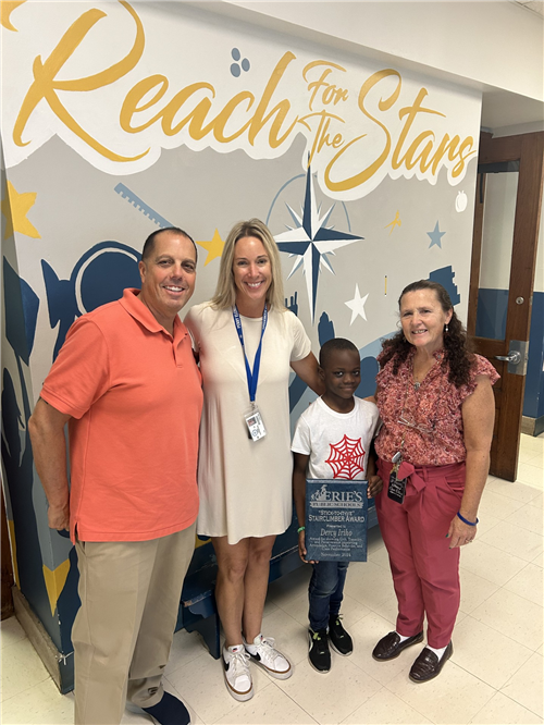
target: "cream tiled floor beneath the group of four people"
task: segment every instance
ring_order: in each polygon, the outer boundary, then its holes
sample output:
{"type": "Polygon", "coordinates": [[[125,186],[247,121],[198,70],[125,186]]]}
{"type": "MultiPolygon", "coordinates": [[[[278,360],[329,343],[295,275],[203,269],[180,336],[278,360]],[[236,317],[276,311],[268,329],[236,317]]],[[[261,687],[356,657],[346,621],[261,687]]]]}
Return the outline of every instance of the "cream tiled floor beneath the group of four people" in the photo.
{"type": "MultiPolygon", "coordinates": [[[[333,653],[327,675],[307,661],[309,568],[271,585],[263,630],[295,665],[288,680],[255,671],[252,700],[237,703],[221,666],[197,634],[178,632],[166,688],[187,703],[193,723],[543,723],[544,435],[522,435],[519,478],[490,477],[473,546],[461,555],[461,611],[455,651],[441,676],[412,684],[418,648],[390,663],[371,651],[394,628],[396,602],[380,533],[369,536],[369,561],[349,568],[344,605],[353,634],[350,658],[333,653]]],[[[0,623],[2,725],[73,722],[73,698],[59,695],[14,618],[0,623]]],[[[123,724],[149,722],[126,713],[123,724]]]]}

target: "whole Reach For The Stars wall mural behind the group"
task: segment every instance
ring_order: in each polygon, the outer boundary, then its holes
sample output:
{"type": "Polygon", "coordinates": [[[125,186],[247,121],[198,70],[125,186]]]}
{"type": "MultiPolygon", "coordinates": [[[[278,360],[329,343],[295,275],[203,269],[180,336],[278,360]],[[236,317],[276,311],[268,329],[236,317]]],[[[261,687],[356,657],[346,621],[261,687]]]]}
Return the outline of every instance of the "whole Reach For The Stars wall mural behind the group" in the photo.
{"type": "MultiPolygon", "coordinates": [[[[75,556],[47,527],[27,421],[73,321],[139,286],[150,232],[194,236],[199,303],[233,223],[265,221],[286,306],[316,353],[355,342],[360,396],[406,284],[441,282],[466,316],[480,96],[211,19],[160,0],[1,3],[0,448],[17,583],[66,671],[75,556]]],[[[293,421],[312,397],[294,377],[293,421]]]]}

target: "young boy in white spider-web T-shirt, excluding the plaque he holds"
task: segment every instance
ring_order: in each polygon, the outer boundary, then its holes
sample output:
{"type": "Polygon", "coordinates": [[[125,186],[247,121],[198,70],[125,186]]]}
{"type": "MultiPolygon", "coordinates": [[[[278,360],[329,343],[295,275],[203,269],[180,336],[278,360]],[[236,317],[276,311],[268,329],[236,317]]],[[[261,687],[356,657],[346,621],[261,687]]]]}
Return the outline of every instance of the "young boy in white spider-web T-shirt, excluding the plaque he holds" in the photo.
{"type": "MultiPolygon", "coordinates": [[[[319,374],[325,393],[300,416],[290,450],[294,453],[293,492],[298,517],[298,552],[306,562],[305,504],[306,479],[346,479],[369,481],[369,499],[382,490],[382,480],[375,475],[369,448],[378,422],[378,408],[373,403],[355,397],[360,382],[359,352],[349,340],[336,337],[326,342],[319,354],[319,374]],[[359,445],[346,465],[331,466],[331,453],[345,438],[359,445]],[[360,453],[360,455],[359,455],[360,453]]],[[[351,448],[351,446],[350,446],[351,448]]],[[[351,637],[342,626],[339,609],[348,562],[309,562],[313,565],[308,597],[310,601],[309,653],[310,664],[318,672],[331,668],[329,641],[338,654],[351,654],[351,637]]]]}

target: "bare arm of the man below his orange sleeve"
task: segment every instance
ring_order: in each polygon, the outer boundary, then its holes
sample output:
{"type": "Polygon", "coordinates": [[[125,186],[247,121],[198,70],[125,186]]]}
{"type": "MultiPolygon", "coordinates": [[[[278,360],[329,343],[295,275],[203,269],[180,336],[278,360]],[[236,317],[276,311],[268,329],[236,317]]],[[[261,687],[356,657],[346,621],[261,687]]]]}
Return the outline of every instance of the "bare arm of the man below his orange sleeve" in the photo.
{"type": "Polygon", "coordinates": [[[70,529],[70,492],[64,426],[72,416],[39,398],[28,420],[34,463],[49,502],[51,529],[70,529]]]}

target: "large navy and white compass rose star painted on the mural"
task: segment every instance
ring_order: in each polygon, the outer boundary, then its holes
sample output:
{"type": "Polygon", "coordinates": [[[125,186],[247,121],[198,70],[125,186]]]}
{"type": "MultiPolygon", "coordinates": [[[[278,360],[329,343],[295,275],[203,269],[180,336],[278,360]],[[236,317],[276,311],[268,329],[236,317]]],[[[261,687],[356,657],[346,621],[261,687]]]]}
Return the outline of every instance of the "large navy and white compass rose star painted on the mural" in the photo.
{"type": "Polygon", "coordinates": [[[336,249],[364,238],[347,232],[336,232],[332,226],[325,226],[334,206],[333,204],[329,211],[320,217],[321,207],[318,208],[316,204],[311,169],[308,167],[302,216],[299,217],[287,206],[296,226],[289,228],[288,232],[283,232],[274,237],[280,251],[287,251],[297,258],[287,279],[293,277],[300,266],[304,266],[312,322],[316,315],[320,267],[325,267],[334,274],[327,255],[334,255],[336,249]]]}

